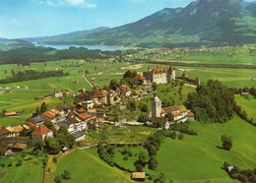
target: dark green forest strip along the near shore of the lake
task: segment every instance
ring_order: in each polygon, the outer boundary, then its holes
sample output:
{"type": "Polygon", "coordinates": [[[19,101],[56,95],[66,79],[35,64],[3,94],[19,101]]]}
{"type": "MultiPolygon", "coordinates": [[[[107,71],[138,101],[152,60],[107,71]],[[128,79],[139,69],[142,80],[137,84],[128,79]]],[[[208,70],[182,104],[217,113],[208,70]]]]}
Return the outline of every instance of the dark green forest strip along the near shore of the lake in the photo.
{"type": "Polygon", "coordinates": [[[0,51],[0,64],[30,65],[32,62],[46,62],[62,59],[102,59],[121,56],[122,51],[89,50],[85,47],[71,46],[58,50],[52,47],[20,47],[8,51],[0,51]]]}

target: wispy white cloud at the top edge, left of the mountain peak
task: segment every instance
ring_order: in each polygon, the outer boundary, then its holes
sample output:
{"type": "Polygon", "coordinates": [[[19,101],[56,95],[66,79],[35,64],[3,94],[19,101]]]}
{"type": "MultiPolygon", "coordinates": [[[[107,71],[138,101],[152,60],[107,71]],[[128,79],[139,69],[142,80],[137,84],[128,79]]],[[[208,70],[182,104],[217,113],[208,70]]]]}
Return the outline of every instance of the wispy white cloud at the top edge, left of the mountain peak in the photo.
{"type": "Polygon", "coordinates": [[[96,4],[90,3],[87,0],[45,0],[39,2],[40,5],[46,4],[48,6],[71,6],[79,8],[96,8],[96,4]]]}

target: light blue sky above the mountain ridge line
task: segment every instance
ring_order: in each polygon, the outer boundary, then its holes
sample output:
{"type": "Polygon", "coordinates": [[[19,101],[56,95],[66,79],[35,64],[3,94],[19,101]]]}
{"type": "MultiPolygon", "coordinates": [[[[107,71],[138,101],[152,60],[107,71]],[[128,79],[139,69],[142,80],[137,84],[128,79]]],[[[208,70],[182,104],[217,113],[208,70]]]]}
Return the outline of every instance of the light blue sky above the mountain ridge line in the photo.
{"type": "Polygon", "coordinates": [[[114,28],[163,8],[185,7],[190,2],[192,0],[0,0],[0,37],[114,28]]]}

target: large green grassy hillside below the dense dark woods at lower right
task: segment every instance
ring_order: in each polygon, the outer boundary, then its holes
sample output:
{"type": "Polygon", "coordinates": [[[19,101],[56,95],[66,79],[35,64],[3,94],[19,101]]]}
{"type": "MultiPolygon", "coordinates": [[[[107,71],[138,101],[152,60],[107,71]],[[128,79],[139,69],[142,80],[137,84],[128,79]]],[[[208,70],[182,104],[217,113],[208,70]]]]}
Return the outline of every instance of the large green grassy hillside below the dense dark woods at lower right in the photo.
{"type": "Polygon", "coordinates": [[[178,182],[235,182],[223,169],[224,161],[240,168],[256,167],[255,127],[235,117],[224,124],[192,125],[198,136],[184,136],[184,140],[167,139],[158,154],[158,172],[164,172],[167,180],[178,182]],[[226,152],[221,136],[231,136],[233,148],[226,152]]]}

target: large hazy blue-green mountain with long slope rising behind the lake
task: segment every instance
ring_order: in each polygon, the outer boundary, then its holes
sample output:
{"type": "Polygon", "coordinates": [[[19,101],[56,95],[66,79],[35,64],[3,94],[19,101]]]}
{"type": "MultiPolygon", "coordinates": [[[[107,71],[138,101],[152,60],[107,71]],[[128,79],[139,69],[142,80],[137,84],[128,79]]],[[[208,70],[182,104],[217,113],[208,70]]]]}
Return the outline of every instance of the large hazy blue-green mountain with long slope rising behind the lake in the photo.
{"type": "MultiPolygon", "coordinates": [[[[139,47],[236,45],[256,42],[256,4],[243,0],[197,0],[165,8],[136,23],[76,36],[50,36],[43,43],[139,47]]],[[[68,34],[66,34],[68,35],[68,34]]]]}

